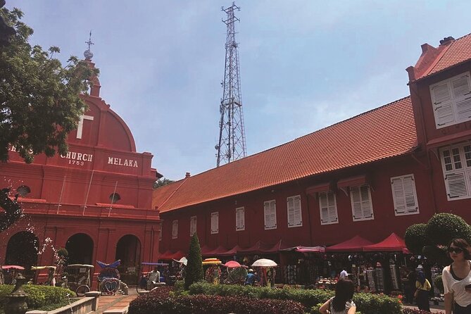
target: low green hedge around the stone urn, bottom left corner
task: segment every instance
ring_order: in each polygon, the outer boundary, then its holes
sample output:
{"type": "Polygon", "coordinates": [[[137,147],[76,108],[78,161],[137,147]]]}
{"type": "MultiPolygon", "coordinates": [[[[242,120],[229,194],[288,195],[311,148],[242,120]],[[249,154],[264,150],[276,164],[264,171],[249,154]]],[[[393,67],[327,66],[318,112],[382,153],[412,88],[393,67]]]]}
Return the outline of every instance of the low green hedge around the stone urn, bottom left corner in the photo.
{"type": "MultiPolygon", "coordinates": [[[[8,294],[13,291],[10,284],[0,284],[0,309],[8,302],[8,294]]],[[[36,284],[25,284],[23,290],[27,294],[26,303],[30,310],[42,310],[59,308],[68,304],[68,296],[75,296],[75,292],[61,287],[40,286],[36,284]]]]}

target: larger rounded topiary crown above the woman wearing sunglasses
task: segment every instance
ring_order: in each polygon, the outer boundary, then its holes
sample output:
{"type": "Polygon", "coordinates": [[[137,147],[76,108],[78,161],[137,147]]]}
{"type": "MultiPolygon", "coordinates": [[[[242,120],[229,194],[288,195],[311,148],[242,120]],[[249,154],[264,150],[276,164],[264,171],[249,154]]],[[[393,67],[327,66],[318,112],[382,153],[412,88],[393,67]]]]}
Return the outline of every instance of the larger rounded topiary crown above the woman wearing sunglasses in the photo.
{"type": "Polygon", "coordinates": [[[425,235],[432,245],[448,245],[452,239],[462,238],[470,242],[471,227],[460,216],[450,213],[435,214],[427,222],[425,235]]]}

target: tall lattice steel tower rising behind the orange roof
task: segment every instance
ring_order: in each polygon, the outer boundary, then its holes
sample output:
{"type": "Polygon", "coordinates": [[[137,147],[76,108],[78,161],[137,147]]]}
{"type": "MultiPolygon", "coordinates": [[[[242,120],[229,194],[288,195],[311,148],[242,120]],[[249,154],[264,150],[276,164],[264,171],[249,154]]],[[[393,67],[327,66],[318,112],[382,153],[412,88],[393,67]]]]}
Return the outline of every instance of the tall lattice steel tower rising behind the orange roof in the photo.
{"type": "Polygon", "coordinates": [[[247,155],[244,134],[244,115],[242,114],[242,98],[239,75],[239,53],[235,41],[234,24],[240,21],[235,17],[234,11],[240,11],[234,2],[229,8],[221,8],[227,14],[227,19],[222,22],[227,25],[226,37],[226,61],[224,69],[224,82],[222,82],[221,104],[219,111],[219,142],[215,146],[218,151],[217,166],[222,163],[230,163],[247,155]]]}

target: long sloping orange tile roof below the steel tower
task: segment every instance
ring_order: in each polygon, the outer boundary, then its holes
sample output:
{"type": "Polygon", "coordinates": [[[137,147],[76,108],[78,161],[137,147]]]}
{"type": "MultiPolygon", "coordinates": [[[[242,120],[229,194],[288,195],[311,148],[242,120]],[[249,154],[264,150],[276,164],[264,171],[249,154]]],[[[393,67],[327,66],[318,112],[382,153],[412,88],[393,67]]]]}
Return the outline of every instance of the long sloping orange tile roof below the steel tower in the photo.
{"type": "Polygon", "coordinates": [[[417,146],[410,97],[267,151],[153,191],[161,213],[303,177],[410,153],[417,146]]]}

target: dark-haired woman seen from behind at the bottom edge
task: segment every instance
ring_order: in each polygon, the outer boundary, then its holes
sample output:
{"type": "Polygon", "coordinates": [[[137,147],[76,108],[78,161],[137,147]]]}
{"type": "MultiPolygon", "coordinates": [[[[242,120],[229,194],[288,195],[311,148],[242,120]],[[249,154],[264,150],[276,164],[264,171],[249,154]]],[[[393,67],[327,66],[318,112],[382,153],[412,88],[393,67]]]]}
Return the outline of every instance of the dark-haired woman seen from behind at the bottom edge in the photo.
{"type": "Polygon", "coordinates": [[[353,282],[351,280],[339,280],[335,286],[335,296],[327,300],[319,309],[322,314],[354,314],[356,305],[353,298],[353,282]]]}

